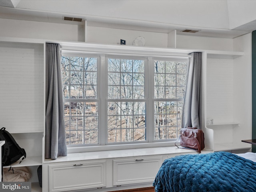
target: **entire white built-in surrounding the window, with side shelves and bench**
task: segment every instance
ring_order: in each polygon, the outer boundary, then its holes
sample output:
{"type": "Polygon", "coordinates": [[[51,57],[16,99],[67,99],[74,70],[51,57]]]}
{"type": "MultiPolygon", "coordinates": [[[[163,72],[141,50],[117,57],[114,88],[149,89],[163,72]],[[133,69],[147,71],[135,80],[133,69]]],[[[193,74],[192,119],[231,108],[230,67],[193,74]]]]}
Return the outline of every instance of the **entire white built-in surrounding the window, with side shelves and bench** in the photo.
{"type": "MultiPolygon", "coordinates": [[[[185,56],[190,52],[202,52],[205,152],[250,150],[250,144],[241,142],[250,139],[252,134],[250,34],[228,40],[233,45],[229,51],[222,51],[221,48],[205,50],[204,46],[202,50],[185,50],[183,46],[186,43],[192,47],[188,41],[185,42],[187,36],[177,38],[176,33],[172,32],[168,37],[170,48],[54,42],[68,50],[94,53],[185,56]],[[206,118],[213,118],[214,124],[206,125],[206,118]]],[[[202,37],[204,40],[207,38],[202,37]]],[[[45,43],[45,40],[0,38],[0,122],[27,152],[27,158],[12,167],[30,168],[32,192],[89,189],[100,192],[113,187],[136,188],[137,184],[152,186],[164,159],[191,153],[172,147],[167,152],[161,152],[161,148],[158,148],[158,152],[145,153],[144,149],[141,151],[143,155],[114,153],[113,156],[107,154],[99,158],[98,154],[104,152],[94,152],[93,155],[79,153],[68,154],[68,157],[57,160],[44,159],[45,43]],[[37,168],[40,165],[43,166],[43,188],[38,187],[37,168]]]]}

